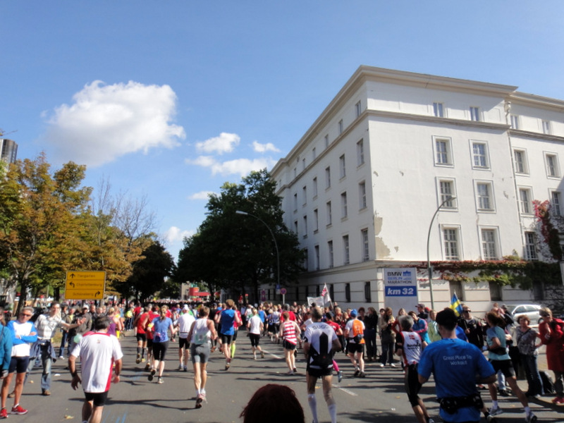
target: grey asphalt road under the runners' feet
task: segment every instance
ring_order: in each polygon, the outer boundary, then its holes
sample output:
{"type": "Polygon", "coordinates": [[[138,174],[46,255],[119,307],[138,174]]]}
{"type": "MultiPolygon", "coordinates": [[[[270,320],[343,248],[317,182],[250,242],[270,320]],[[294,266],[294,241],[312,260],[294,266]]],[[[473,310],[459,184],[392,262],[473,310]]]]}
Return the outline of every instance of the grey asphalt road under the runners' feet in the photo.
{"type": "MultiPolygon", "coordinates": [[[[242,422],[239,415],[243,407],[257,388],[268,383],[285,384],[296,392],[304,407],[306,422],[312,419],[307,405],[305,387],[305,364],[298,360],[298,374],[286,375],[286,364],[280,345],[271,344],[263,338],[261,343],[266,350],[266,357],[252,360],[250,342],[246,336],[238,339],[238,348],[231,369],[224,370],[224,360],[218,354],[212,354],[209,364],[207,399],[200,409],[195,409],[195,389],[192,372],[178,372],[178,353],[176,344],[171,344],[167,353],[164,384],[147,380],[147,372],[142,364],[135,364],[135,338],[133,333],[122,339],[124,353],[121,382],[112,385],[109,401],[104,407],[102,421],[105,423],[165,423],[165,422],[242,422]]],[[[300,355],[298,355],[300,357],[300,355]]],[[[339,422],[416,422],[415,415],[407,402],[403,388],[403,374],[399,369],[386,367],[381,369],[374,363],[367,364],[365,379],[353,378],[353,367],[342,353],[336,357],[345,377],[338,384],[333,378],[333,396],[337,403],[339,422]]],[[[29,410],[27,415],[10,415],[12,422],[82,422],[81,407],[83,393],[71,388],[71,377],[65,370],[66,362],[58,361],[53,366],[54,376],[52,395],[41,395],[39,379],[41,369],[36,368],[24,387],[20,401],[29,410]]],[[[454,375],[453,375],[454,377],[454,375]]],[[[321,384],[317,386],[317,406],[320,422],[330,422],[321,384]]],[[[439,409],[434,402],[434,384],[429,382],[421,393],[431,417],[440,422],[439,409]]],[[[487,393],[482,396],[486,405],[491,405],[487,393]]],[[[545,400],[550,400],[551,397],[545,400]]],[[[13,400],[8,398],[8,410],[13,400]]],[[[500,398],[500,405],[505,414],[498,418],[499,423],[522,423],[524,413],[515,397],[500,398]]],[[[539,422],[564,422],[563,407],[539,401],[531,404],[539,417],[539,422]]],[[[484,419],[482,419],[484,421],[484,419]]],[[[268,416],[264,417],[268,423],[268,416]]],[[[289,422],[290,423],[290,422],[289,422]]]]}

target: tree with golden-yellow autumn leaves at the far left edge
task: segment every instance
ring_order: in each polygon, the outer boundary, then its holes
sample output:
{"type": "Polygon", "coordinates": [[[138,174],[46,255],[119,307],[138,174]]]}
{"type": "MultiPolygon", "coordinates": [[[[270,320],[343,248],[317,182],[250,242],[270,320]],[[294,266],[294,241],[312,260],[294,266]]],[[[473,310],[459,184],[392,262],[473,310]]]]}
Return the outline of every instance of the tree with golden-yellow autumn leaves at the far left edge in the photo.
{"type": "Polygon", "coordinates": [[[80,222],[92,191],[81,186],[85,170],[71,161],[51,175],[40,154],[16,161],[0,180],[0,256],[8,285],[20,286],[18,309],[30,286],[61,281],[80,255],[80,222]]]}

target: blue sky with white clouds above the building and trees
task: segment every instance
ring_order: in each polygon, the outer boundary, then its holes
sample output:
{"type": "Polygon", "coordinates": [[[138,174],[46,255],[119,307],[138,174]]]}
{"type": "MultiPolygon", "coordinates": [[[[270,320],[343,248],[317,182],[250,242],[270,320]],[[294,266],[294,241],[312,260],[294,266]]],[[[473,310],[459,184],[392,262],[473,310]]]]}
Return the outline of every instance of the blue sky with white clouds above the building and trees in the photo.
{"type": "Polygon", "coordinates": [[[176,257],[206,192],[286,156],[358,66],[564,99],[564,2],[0,2],[18,158],[146,196],[176,257]]]}

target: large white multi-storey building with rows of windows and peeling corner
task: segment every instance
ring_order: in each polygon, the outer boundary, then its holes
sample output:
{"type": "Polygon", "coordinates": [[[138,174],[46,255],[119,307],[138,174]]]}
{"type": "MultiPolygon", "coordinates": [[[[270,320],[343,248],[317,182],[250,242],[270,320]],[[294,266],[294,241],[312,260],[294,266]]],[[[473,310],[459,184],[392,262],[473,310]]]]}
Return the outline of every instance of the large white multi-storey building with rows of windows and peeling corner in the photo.
{"type": "MultiPolygon", "coordinates": [[[[427,262],[443,202],[431,262],[542,259],[533,200],[561,204],[562,159],[560,100],[361,66],[271,171],[285,223],[307,250],[307,272],[289,298],[302,302],[326,283],[343,307],[383,306],[384,269],[427,262]]],[[[453,293],[476,310],[541,300],[541,292],[440,277],[438,309],[453,293]]],[[[429,305],[427,270],[417,279],[409,309],[429,305]]]]}

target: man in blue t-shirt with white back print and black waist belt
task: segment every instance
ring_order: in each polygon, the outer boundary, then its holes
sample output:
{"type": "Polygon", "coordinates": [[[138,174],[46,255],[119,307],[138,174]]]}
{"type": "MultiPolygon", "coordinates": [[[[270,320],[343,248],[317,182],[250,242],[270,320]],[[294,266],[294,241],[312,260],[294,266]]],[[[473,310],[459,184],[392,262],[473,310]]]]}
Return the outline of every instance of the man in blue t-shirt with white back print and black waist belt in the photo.
{"type": "Polygon", "coordinates": [[[472,405],[472,397],[479,396],[476,384],[489,384],[496,380],[494,367],[476,345],[456,337],[457,317],[452,309],[436,315],[439,333],[443,339],[429,344],[419,361],[419,382],[424,384],[434,374],[436,396],[443,400],[441,418],[444,422],[479,422],[483,405],[472,405]],[[477,379],[478,377],[478,379],[477,379]],[[448,403],[456,401],[455,410],[448,403]]]}

